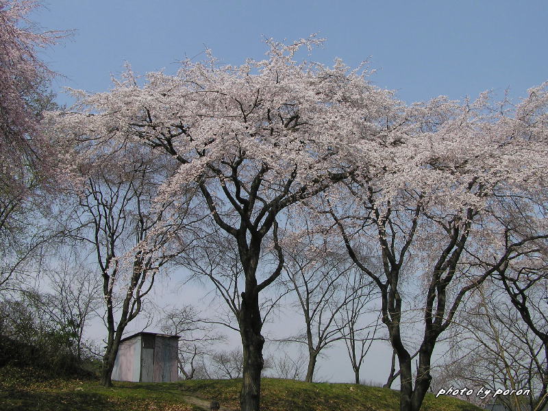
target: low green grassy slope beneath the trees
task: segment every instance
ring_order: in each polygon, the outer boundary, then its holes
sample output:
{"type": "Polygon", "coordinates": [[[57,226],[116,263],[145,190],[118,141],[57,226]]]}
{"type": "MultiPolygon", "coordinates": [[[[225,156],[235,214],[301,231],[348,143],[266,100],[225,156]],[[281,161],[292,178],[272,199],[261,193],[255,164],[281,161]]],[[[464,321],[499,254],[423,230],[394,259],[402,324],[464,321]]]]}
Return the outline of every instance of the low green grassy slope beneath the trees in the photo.
{"type": "MultiPolygon", "coordinates": [[[[103,388],[95,380],[46,379],[40,371],[12,366],[0,369],[0,410],[25,411],[197,411],[199,399],[216,399],[238,410],[241,380],[196,380],[149,384],[115,382],[103,388]]],[[[399,393],[354,384],[308,384],[287,379],[262,381],[263,411],[395,411],[399,393]]],[[[203,402],[206,403],[206,402],[203,402]]],[[[479,411],[469,403],[428,395],[425,411],[479,411]]]]}

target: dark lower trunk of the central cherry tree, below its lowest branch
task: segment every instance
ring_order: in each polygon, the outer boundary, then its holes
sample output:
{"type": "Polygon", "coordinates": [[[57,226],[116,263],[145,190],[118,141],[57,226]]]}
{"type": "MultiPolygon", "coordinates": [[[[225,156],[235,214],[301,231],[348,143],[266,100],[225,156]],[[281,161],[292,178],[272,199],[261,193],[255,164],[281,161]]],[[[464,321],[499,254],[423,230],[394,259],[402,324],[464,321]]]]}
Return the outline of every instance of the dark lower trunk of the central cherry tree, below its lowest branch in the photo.
{"type": "Polygon", "coordinates": [[[240,310],[240,335],[243,349],[243,382],[240,392],[242,411],[259,411],[261,371],[264,366],[262,358],[264,337],[260,333],[261,328],[257,293],[249,295],[247,292],[242,292],[240,310]]]}

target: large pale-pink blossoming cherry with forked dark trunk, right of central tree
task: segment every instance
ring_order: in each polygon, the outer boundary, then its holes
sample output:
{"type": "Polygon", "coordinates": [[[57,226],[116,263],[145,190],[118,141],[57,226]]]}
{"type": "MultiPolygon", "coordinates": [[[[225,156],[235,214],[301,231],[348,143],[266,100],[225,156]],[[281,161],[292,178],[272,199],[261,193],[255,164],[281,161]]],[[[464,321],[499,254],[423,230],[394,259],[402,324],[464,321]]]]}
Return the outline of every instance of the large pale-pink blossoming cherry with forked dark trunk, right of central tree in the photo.
{"type": "Polygon", "coordinates": [[[323,200],[350,258],[381,293],[402,411],[421,408],[436,341],[466,294],[512,262],[533,264],[546,245],[546,88],[530,90],[513,110],[504,103],[496,110],[482,95],[473,103],[438,98],[387,114],[377,134],[385,147],[381,162],[364,164],[343,192],[323,200]],[[530,196],[534,207],[517,201],[530,196]],[[509,214],[527,220],[521,235],[501,223],[509,214]],[[414,350],[402,325],[416,323],[417,312],[423,325],[413,384],[414,350]]]}

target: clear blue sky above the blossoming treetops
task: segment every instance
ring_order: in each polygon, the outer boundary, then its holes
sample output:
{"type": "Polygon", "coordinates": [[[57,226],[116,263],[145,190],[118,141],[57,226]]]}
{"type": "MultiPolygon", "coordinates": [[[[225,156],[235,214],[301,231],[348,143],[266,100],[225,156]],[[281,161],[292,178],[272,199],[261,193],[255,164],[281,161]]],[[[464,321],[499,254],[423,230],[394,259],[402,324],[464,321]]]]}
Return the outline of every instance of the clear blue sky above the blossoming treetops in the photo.
{"type": "MultiPolygon", "coordinates": [[[[327,38],[311,60],[369,60],[375,84],[412,103],[510,88],[521,97],[548,79],[546,1],[143,1],[45,0],[32,16],[45,29],[75,29],[44,55],[65,75],[56,87],[110,87],[123,62],[137,73],[200,53],[222,62],[262,58],[261,36],[327,38]]],[[[199,57],[198,57],[199,58],[199,57]]],[[[69,101],[60,97],[60,101],[69,101]]]]}

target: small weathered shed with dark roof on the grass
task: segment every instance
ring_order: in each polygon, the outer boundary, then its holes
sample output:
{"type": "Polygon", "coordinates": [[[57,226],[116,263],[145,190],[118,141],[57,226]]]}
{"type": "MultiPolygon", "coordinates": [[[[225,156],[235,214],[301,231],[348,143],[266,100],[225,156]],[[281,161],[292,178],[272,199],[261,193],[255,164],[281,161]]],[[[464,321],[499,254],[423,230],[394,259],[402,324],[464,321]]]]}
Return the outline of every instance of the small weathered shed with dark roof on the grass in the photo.
{"type": "Polygon", "coordinates": [[[179,336],[138,332],[120,341],[112,379],[132,382],[177,381],[179,336]]]}

